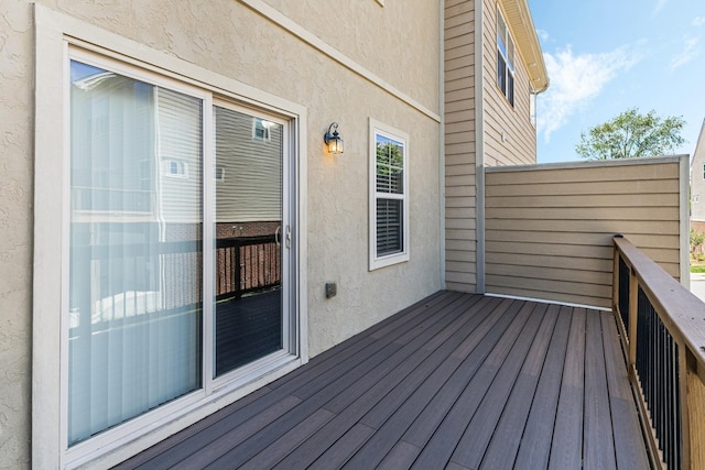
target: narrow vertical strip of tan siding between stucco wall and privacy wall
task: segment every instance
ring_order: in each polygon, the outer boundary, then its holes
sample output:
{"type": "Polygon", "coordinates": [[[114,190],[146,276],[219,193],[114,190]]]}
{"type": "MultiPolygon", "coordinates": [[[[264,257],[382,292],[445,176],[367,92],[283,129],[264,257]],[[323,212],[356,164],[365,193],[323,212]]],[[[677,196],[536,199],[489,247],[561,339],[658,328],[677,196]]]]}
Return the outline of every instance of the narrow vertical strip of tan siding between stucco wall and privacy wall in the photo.
{"type": "Polygon", "coordinates": [[[475,2],[445,2],[445,277],[475,292],[475,2]]]}

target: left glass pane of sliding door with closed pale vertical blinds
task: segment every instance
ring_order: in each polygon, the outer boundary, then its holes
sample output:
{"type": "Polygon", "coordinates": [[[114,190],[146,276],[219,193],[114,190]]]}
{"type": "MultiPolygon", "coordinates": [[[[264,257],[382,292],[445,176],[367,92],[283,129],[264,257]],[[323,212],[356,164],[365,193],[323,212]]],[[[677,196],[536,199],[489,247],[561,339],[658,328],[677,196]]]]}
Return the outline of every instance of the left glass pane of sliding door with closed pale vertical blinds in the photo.
{"type": "Polygon", "coordinates": [[[203,100],[70,63],[68,445],[202,386],[203,100]]]}

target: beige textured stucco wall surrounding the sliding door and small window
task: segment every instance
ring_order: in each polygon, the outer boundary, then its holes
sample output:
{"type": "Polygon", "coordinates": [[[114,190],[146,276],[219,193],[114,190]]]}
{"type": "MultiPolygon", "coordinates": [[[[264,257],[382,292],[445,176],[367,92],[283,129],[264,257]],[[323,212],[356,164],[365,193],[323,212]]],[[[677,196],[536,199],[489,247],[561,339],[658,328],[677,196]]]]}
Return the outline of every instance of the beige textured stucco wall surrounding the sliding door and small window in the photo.
{"type": "MultiPolygon", "coordinates": [[[[306,108],[308,146],[301,157],[307,163],[304,313],[311,356],[441,288],[440,123],[433,117],[440,112],[437,4],[340,3],[340,21],[329,24],[329,15],[322,15],[330,10],[327,1],[269,2],[295,28],[338,50],[344,66],[239,1],[37,3],[306,108]],[[368,271],[369,118],[411,135],[411,260],[375,272],[368,271]],[[326,155],[322,142],[333,121],[346,144],[338,156],[326,155]],[[326,299],[330,281],[338,294],[326,299]]],[[[30,351],[33,340],[41,341],[31,338],[34,33],[29,0],[3,7],[0,468],[25,468],[30,351]]]]}

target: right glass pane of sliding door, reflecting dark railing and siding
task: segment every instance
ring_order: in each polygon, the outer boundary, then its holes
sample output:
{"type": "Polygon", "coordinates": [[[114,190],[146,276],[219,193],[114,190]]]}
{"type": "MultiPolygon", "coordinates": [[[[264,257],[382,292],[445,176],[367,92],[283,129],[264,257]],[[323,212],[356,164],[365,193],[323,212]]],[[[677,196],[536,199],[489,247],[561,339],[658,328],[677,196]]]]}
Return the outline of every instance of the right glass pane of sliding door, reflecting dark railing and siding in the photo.
{"type": "Polygon", "coordinates": [[[284,348],[284,127],[215,107],[215,375],[284,348]]]}

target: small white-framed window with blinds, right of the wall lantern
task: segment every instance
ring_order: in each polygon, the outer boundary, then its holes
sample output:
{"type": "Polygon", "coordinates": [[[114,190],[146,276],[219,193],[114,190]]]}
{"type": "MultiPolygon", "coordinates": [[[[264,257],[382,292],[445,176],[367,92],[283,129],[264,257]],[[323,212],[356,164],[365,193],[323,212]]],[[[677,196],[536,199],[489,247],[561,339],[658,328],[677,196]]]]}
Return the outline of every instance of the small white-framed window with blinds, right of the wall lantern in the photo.
{"type": "Polygon", "coordinates": [[[370,119],[370,270],[409,260],[408,141],[370,119]]]}

